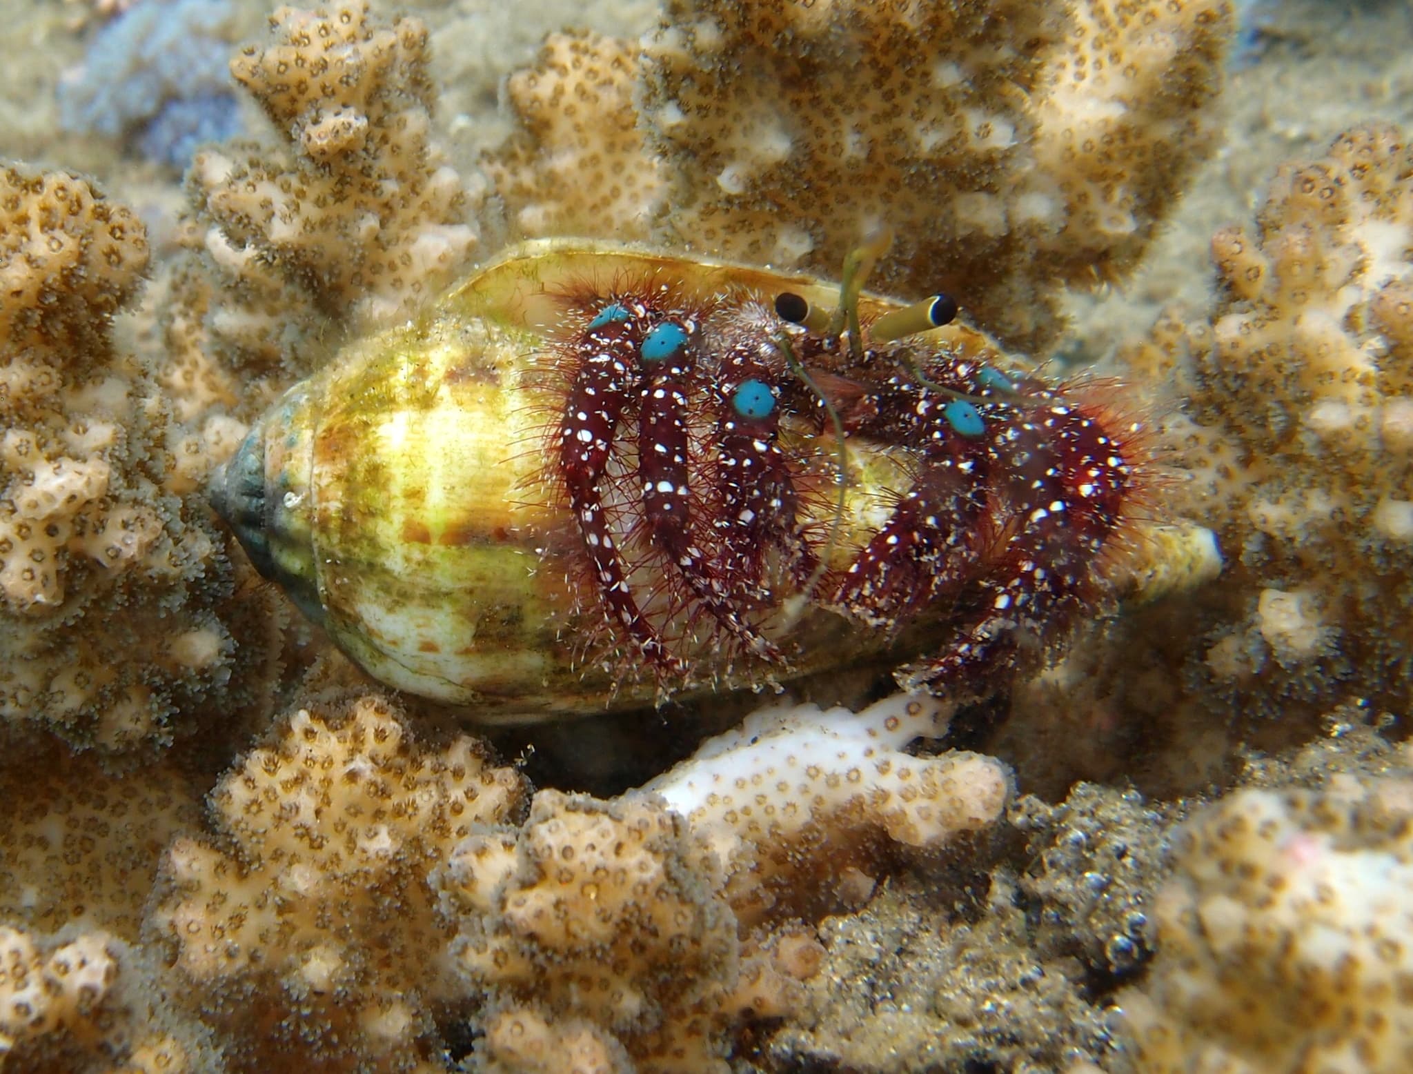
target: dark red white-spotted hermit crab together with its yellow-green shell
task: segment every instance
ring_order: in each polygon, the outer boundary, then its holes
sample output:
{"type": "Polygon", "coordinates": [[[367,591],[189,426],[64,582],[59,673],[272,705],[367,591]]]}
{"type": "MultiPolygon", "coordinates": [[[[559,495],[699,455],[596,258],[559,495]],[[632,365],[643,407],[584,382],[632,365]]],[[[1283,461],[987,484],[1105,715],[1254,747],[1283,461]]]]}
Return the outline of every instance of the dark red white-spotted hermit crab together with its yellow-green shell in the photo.
{"type": "Polygon", "coordinates": [[[861,661],[976,694],[1094,606],[1142,423],[941,295],[527,243],[292,387],[211,483],[365,670],[492,722],[861,661]]]}

